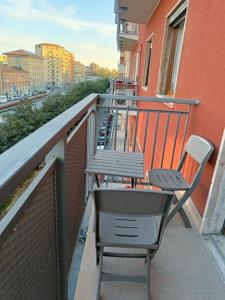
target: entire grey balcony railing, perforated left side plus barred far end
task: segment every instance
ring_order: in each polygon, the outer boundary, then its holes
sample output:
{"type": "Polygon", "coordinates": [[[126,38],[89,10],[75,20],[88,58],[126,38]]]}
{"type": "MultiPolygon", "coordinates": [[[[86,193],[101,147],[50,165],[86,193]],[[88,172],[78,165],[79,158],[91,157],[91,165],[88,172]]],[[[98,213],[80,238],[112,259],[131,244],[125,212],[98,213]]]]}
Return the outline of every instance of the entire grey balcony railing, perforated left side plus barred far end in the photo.
{"type": "Polygon", "coordinates": [[[191,106],[198,103],[91,94],[4,152],[0,205],[12,197],[16,202],[0,220],[0,299],[68,298],[72,256],[93,186],[84,170],[107,112],[114,116],[110,147],[142,151],[147,170],[176,166],[191,106]]]}

